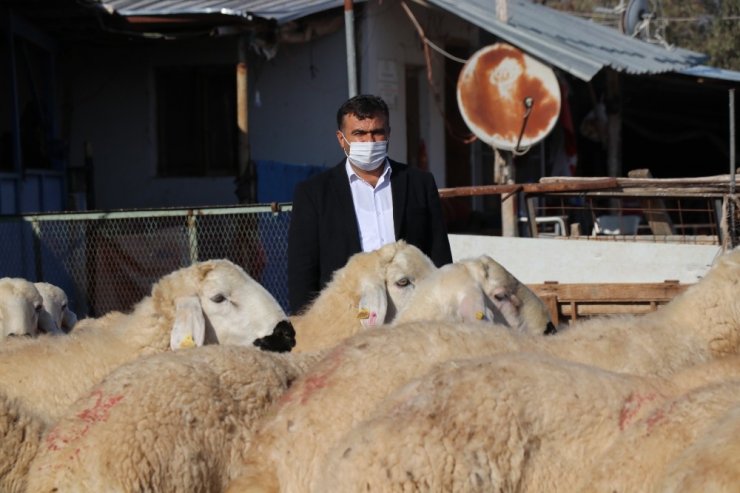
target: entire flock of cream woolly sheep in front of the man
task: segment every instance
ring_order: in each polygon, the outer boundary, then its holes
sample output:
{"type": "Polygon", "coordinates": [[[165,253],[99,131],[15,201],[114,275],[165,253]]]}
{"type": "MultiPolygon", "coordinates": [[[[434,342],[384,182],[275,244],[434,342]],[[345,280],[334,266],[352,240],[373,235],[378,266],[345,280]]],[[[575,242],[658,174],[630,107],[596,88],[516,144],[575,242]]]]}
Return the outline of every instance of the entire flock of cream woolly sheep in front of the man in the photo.
{"type": "Polygon", "coordinates": [[[736,249],[556,328],[492,258],[403,241],[289,317],[227,260],[79,321],[0,279],[0,492],[734,491],[739,288],[736,249]]]}

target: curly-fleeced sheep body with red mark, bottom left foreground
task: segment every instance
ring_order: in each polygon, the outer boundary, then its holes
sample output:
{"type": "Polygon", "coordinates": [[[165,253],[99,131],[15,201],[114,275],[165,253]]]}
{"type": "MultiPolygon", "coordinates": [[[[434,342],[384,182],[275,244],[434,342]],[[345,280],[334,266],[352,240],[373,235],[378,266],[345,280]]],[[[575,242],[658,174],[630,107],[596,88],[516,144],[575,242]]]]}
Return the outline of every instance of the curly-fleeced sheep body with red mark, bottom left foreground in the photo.
{"type": "Polygon", "coordinates": [[[28,491],[220,491],[257,419],[319,354],[206,346],[124,365],[46,432],[28,491]]]}

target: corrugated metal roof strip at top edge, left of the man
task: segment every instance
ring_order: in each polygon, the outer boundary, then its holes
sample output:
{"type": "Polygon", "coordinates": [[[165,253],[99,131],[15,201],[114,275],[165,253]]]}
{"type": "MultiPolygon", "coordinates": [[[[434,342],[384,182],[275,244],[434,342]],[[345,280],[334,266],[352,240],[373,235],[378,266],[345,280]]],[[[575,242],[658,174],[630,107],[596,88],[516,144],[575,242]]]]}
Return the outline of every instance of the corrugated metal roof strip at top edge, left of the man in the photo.
{"type": "Polygon", "coordinates": [[[344,5],[343,0],[99,0],[110,13],[122,16],[184,14],[250,15],[279,24],[344,5]]]}

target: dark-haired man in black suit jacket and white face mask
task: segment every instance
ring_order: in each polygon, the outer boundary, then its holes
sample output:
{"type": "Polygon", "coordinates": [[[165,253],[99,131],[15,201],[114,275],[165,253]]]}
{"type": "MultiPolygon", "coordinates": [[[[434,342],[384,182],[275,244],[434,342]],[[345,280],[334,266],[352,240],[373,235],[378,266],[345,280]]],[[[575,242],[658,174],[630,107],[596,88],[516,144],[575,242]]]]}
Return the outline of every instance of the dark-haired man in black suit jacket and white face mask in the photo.
{"type": "Polygon", "coordinates": [[[299,183],[288,232],[288,298],[300,313],[350,256],[404,239],[438,267],[452,262],[431,173],[388,159],[388,106],[355,96],[337,111],[347,156],[299,183]]]}

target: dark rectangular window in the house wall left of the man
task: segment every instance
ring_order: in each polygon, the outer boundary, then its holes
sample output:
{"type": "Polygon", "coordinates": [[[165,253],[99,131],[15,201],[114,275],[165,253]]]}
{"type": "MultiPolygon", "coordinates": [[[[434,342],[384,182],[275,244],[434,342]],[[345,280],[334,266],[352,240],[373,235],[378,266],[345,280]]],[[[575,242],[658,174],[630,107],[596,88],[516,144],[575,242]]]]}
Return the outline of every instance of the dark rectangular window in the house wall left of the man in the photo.
{"type": "Polygon", "coordinates": [[[236,76],[230,66],[155,72],[157,175],[229,176],[238,170],[236,76]]]}

